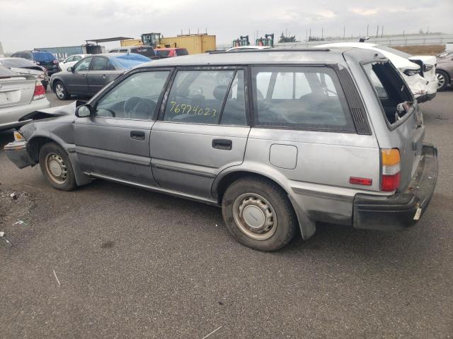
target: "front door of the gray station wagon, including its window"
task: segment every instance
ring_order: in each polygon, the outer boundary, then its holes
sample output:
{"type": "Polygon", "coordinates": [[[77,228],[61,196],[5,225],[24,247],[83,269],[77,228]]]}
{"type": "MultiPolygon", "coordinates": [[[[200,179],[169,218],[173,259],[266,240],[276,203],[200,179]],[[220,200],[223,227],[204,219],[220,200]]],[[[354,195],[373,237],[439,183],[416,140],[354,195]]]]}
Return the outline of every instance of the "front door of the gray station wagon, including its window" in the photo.
{"type": "Polygon", "coordinates": [[[134,71],[91,103],[74,124],[76,153],[93,177],[155,185],[149,134],[171,69],[134,71]]]}

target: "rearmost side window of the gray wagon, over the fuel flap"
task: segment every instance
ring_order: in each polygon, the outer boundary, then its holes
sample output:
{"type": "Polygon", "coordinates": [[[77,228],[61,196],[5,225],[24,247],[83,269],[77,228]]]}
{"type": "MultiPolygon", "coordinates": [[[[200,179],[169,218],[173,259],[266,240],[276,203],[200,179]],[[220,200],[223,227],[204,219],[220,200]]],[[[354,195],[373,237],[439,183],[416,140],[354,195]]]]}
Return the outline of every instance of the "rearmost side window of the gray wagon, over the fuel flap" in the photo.
{"type": "Polygon", "coordinates": [[[355,131],[331,68],[253,67],[252,89],[258,126],[355,131]]]}

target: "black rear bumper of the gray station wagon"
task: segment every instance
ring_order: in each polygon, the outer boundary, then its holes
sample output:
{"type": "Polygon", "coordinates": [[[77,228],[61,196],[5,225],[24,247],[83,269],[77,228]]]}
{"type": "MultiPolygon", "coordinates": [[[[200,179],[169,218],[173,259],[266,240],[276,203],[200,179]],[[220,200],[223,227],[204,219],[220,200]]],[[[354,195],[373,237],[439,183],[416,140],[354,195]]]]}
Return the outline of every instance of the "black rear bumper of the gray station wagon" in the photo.
{"type": "Polygon", "coordinates": [[[365,230],[404,230],[417,222],[430,203],[437,181],[437,148],[423,145],[415,174],[403,193],[389,197],[357,194],[353,225],[365,230]]]}

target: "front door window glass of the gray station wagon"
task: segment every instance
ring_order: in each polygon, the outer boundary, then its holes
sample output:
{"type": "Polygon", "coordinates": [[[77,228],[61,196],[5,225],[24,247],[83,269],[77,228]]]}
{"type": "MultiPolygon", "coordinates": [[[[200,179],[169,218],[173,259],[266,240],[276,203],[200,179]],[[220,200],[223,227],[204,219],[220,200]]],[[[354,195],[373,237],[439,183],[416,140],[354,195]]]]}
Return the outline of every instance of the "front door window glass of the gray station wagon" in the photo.
{"type": "Polygon", "coordinates": [[[96,105],[96,117],[151,120],[170,71],[134,73],[96,105]]]}

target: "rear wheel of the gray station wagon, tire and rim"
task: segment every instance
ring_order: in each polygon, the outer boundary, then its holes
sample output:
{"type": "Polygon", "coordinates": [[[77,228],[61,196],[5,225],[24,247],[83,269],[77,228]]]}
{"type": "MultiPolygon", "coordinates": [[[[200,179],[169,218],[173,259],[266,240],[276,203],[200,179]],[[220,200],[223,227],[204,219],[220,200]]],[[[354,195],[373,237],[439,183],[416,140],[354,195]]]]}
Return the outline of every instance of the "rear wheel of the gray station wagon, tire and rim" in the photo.
{"type": "Polygon", "coordinates": [[[226,227],[238,242],[260,251],[282,248],[292,240],[298,227],[285,191],[258,177],[243,177],[226,189],[222,214],[226,227]]]}

